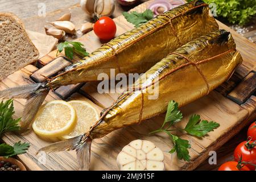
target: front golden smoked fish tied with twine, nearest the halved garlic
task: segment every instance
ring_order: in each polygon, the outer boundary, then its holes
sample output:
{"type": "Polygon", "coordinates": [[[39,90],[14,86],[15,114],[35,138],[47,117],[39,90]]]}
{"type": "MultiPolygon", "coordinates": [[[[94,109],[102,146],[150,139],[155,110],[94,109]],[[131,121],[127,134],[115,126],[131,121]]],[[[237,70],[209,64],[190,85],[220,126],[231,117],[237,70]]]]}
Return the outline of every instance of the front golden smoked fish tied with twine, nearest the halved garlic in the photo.
{"type": "Polygon", "coordinates": [[[40,151],[76,150],[80,168],[89,169],[93,139],[164,113],[170,100],[184,106],[207,95],[228,80],[241,63],[242,57],[230,32],[218,30],[201,36],[144,73],[145,79],[138,79],[132,89],[124,92],[87,133],[52,143],[40,151]],[[149,99],[152,93],[148,91],[156,86],[158,97],[149,99]]]}

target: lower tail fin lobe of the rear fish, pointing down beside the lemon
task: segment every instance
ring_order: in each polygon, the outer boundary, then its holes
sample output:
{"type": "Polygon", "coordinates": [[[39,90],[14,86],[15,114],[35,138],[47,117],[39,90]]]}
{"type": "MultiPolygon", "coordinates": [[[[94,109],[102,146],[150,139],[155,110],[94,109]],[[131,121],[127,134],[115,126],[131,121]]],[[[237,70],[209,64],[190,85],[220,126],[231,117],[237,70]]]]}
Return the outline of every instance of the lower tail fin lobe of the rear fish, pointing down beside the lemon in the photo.
{"type": "Polygon", "coordinates": [[[43,104],[48,92],[49,90],[44,89],[29,95],[26,105],[24,106],[19,133],[25,132],[30,127],[32,119],[34,119],[39,107],[43,104]]]}

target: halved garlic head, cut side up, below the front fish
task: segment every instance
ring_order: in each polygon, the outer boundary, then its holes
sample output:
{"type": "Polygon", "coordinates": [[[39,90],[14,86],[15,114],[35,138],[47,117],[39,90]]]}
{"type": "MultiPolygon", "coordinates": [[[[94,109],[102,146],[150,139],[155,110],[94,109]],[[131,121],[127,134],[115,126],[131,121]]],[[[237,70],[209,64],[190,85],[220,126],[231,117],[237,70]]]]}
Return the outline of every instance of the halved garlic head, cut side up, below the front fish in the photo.
{"type": "Polygon", "coordinates": [[[164,155],[160,148],[148,140],[134,140],[117,156],[117,165],[122,171],[164,170],[164,155]]]}

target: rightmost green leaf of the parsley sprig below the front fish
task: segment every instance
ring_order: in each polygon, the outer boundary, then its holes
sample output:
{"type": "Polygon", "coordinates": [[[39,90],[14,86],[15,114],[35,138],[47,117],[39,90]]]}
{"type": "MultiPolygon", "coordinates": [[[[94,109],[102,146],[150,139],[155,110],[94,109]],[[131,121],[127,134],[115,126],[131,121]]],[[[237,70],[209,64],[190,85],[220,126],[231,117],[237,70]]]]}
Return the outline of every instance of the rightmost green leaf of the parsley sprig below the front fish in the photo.
{"type": "Polygon", "coordinates": [[[187,131],[188,134],[194,135],[196,137],[204,137],[207,133],[210,131],[213,131],[213,129],[216,129],[219,127],[220,124],[213,122],[213,121],[201,121],[200,115],[193,114],[187,123],[187,126],[185,126],[185,131],[187,131]]]}

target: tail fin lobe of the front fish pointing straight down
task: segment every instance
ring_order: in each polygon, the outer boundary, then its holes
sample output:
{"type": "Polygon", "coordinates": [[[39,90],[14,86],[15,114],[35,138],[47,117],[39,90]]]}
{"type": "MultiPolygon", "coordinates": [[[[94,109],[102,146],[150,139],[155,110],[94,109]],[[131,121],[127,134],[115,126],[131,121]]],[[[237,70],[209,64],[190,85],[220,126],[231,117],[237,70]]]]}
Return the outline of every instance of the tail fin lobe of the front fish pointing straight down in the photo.
{"type": "Polygon", "coordinates": [[[80,171],[89,171],[90,169],[90,147],[92,139],[87,137],[76,147],[76,156],[80,171]]]}

